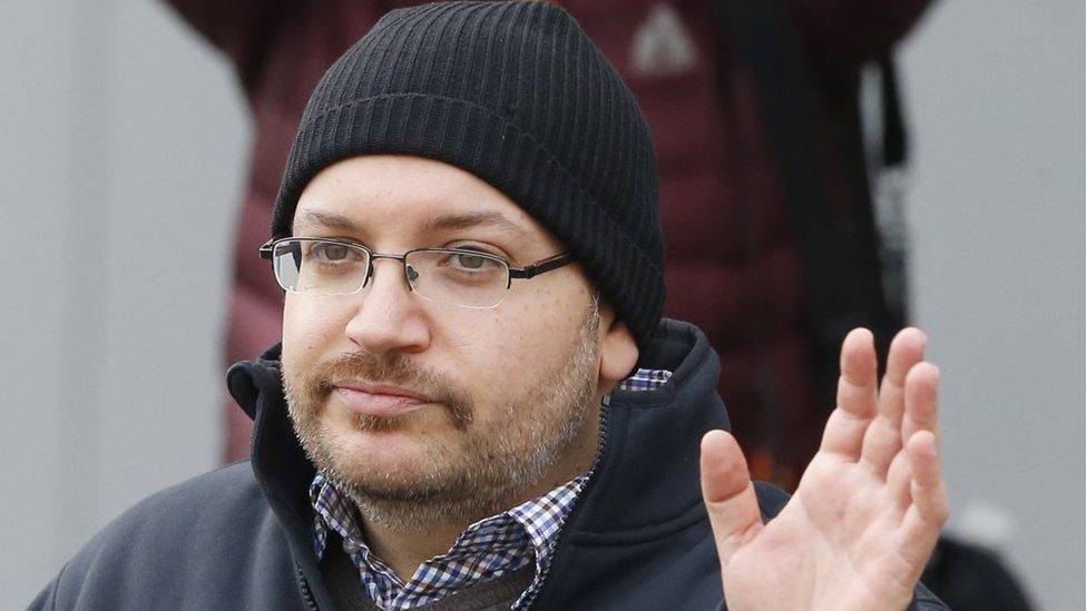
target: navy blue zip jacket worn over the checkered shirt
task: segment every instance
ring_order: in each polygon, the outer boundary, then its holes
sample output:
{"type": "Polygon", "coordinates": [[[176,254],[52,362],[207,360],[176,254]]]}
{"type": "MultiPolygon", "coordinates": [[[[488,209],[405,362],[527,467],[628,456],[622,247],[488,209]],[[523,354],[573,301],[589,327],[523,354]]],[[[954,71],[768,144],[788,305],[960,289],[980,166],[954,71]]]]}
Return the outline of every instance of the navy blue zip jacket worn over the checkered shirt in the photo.
{"type": "MultiPolygon", "coordinates": [[[[640,361],[663,387],[613,394],[593,477],[560,535],[535,610],[714,610],[721,570],[698,485],[702,435],[727,427],[717,356],[665,321],[640,361]]],[[[227,374],[256,420],[251,461],[160,492],[95,536],[33,609],[321,609],[332,597],[312,546],[314,467],[296,442],[278,348],[227,374]]],[[[786,501],[760,484],[765,518],[786,501]]],[[[913,609],[944,607],[923,588],[913,609]]]]}

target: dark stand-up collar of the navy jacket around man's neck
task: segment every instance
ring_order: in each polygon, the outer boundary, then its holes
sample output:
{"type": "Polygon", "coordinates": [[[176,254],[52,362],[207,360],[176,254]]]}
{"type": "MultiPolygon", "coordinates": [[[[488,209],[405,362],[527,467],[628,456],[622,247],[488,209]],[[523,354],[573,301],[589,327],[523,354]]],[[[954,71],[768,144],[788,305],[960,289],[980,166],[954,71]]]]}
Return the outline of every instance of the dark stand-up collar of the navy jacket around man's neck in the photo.
{"type": "MultiPolygon", "coordinates": [[[[268,504],[286,532],[295,562],[322,608],[331,608],[312,548],[306,491],[315,475],[294,435],[283,396],[277,344],[238,363],[227,386],[254,418],[252,464],[268,504]]],[[[727,428],[716,394],[718,361],[695,326],[664,319],[639,366],[669,369],[648,392],[616,391],[604,411],[600,453],[568,528],[570,536],[635,540],[703,518],[698,447],[711,428],[727,428]]],[[[614,542],[614,541],[613,541],[614,542]]],[[[558,551],[557,551],[558,552],[558,551]]]]}

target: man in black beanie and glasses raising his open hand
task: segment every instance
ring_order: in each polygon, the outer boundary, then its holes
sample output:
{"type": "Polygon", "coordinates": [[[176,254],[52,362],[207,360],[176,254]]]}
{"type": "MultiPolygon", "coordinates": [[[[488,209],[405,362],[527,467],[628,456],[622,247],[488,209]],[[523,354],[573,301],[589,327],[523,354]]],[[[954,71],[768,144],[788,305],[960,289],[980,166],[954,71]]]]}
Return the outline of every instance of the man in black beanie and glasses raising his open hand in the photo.
{"type": "Polygon", "coordinates": [[[878,390],[851,333],[796,494],[752,484],[716,356],[659,319],[654,166],[564,10],[383,18],[314,91],[262,248],[282,347],[228,374],[252,466],[140,503],[35,607],[942,608],[923,334],[878,390]]]}

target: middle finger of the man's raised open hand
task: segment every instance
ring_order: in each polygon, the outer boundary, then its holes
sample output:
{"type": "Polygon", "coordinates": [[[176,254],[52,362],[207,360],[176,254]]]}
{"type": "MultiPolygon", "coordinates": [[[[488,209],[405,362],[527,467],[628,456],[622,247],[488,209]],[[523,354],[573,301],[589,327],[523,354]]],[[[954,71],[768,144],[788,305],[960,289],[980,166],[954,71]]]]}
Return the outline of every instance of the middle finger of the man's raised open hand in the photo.
{"type": "Polygon", "coordinates": [[[864,433],[861,460],[879,477],[885,477],[891,461],[902,450],[902,415],[905,410],[905,375],[924,355],[924,333],[902,329],[891,342],[887,374],[880,385],[878,415],[864,433]]]}

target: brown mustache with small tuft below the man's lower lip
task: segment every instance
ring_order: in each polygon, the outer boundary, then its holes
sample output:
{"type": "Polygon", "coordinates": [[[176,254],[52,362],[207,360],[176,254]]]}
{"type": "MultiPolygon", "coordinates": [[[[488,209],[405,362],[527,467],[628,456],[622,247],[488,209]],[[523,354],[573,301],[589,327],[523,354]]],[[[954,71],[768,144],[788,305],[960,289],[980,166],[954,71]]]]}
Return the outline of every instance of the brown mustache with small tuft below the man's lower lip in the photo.
{"type": "MultiPolygon", "coordinates": [[[[379,355],[369,351],[344,354],[335,361],[317,365],[305,383],[305,393],[313,401],[324,401],[336,386],[366,381],[400,386],[441,404],[453,425],[464,430],[473,420],[468,392],[460,390],[447,376],[417,366],[399,354],[379,355]]],[[[360,416],[361,426],[372,430],[394,428],[399,418],[360,416]]]]}

